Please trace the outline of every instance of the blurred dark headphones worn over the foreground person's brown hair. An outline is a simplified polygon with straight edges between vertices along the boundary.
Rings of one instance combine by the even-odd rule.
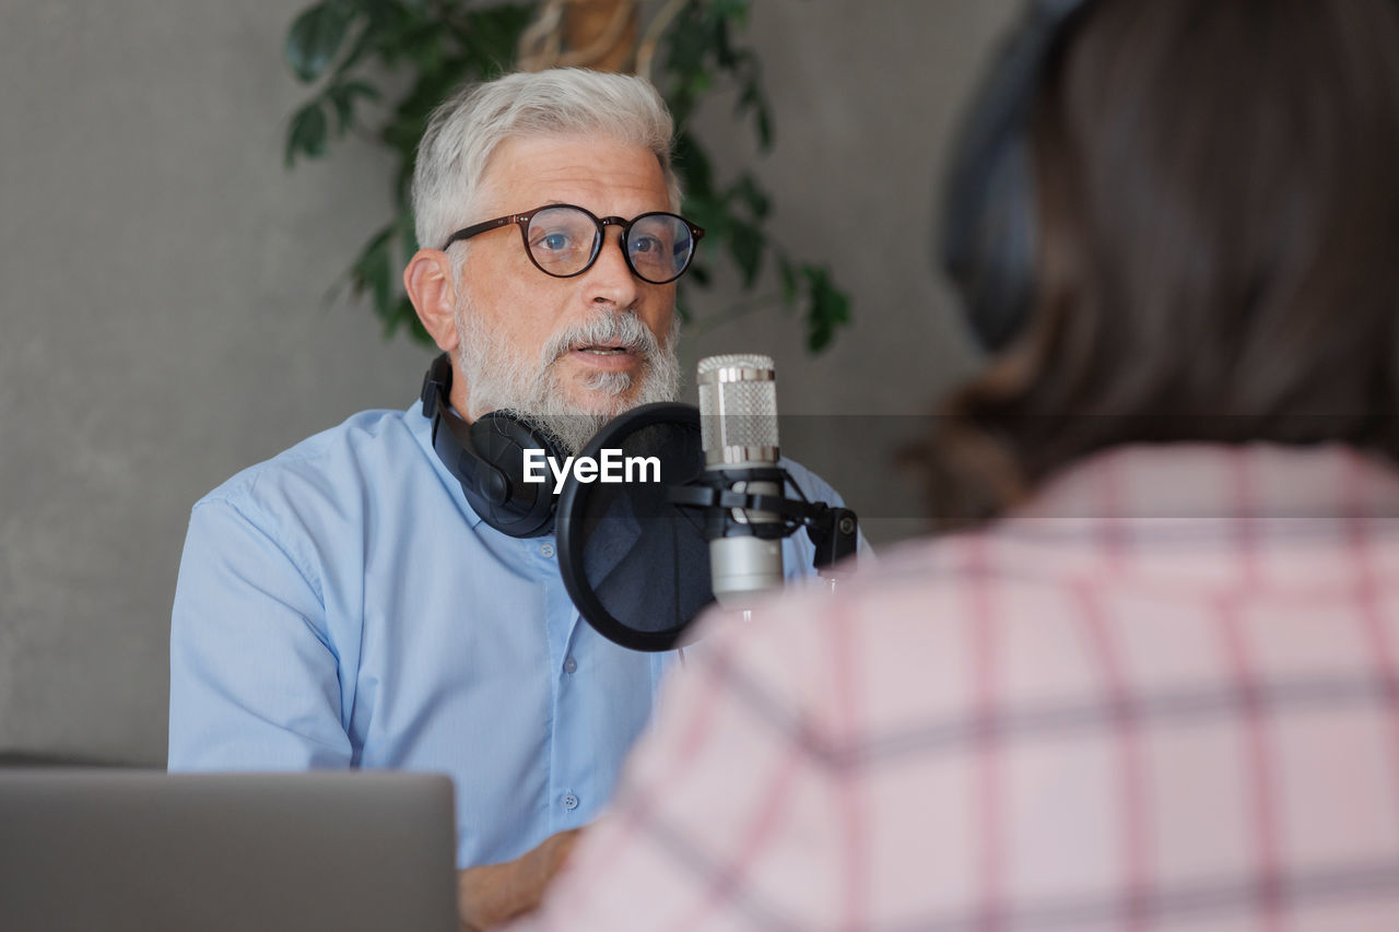
[[[942,264],[977,341],[1006,348],[1034,304],[1039,220],[1030,120],[1045,64],[1094,0],[1031,0],[982,78],[943,192]]]

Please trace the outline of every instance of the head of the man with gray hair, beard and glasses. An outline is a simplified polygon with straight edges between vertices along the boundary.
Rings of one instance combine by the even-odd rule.
[[[576,451],[624,410],[674,397],[674,280],[701,231],[672,213],[670,136],[649,84],[576,69],[511,74],[434,115],[413,206],[418,242],[442,248],[420,250],[403,283],[456,357],[452,403],[469,420],[527,411]],[[536,207],[546,185],[558,197],[508,213]],[[602,248],[613,224],[625,249]],[[525,249],[504,234],[476,239],[506,225]]]

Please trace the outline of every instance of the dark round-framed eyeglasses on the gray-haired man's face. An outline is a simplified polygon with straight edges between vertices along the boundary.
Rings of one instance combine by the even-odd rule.
[[[596,217],[574,204],[546,204],[457,230],[446,238],[442,249],[509,224],[520,228],[530,262],[555,278],[572,278],[593,267],[603,250],[604,227],[621,227],[625,246],[621,255],[627,267],[651,284],[666,284],[683,276],[695,256],[695,243],[704,238],[704,230],[676,214],[655,211],[623,220]]]

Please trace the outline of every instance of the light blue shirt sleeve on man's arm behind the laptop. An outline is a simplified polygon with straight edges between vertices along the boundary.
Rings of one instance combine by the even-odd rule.
[[[305,561],[231,501],[196,505],[171,617],[169,768],[348,767],[340,697]]]

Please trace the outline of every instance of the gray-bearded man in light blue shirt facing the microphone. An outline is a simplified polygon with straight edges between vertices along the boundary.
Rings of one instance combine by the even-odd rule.
[[[674,399],[676,280],[702,231],[674,213],[672,133],[644,80],[572,69],[434,115],[403,283],[448,354],[443,409],[509,411],[576,451]],[[553,535],[477,514],[427,407],[357,414],[194,505],[169,767],[450,774],[463,919],[485,925],[532,905],[607,802],[672,658],[579,623]],[[783,550],[811,565],[804,537]]]

